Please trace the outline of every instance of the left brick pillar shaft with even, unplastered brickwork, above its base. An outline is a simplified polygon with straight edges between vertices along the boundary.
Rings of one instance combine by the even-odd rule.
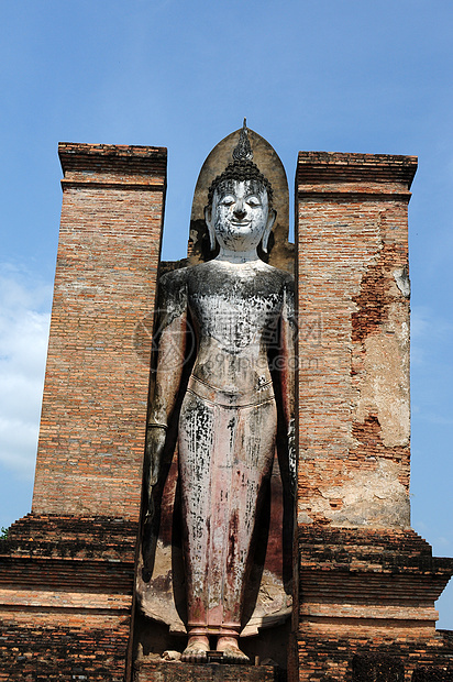
[[[135,520],[148,389],[142,320],[155,298],[166,150],[58,151],[63,209],[33,513]]]

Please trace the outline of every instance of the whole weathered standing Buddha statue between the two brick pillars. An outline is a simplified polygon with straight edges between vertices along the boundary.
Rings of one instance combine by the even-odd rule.
[[[270,183],[252,161],[245,121],[233,162],[210,187],[205,217],[218,255],[161,280],[143,563],[146,572],[154,491],[177,414],[188,634],[183,660],[206,660],[216,636],[223,659],[242,662],[247,657],[239,636],[277,426],[286,469],[295,474],[296,329],[291,275],[257,255],[258,245],[267,250],[276,213]]]

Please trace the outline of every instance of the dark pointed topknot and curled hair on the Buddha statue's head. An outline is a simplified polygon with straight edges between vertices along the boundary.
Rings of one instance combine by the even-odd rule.
[[[212,198],[216,189],[223,183],[231,180],[254,180],[267,190],[267,199],[269,208],[272,207],[273,189],[269,180],[265,177],[256,164],[253,163],[253,152],[250,145],[248,131],[246,127],[246,120],[239,136],[237,145],[233,150],[233,162],[230,163],[226,168],[218,175],[211,183],[208,190],[208,206],[212,205]]]

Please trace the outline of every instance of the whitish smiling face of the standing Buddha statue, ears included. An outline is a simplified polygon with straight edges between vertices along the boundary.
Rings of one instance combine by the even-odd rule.
[[[222,183],[214,191],[212,207],[206,211],[211,245],[214,246],[217,240],[226,252],[256,251],[262,240],[266,251],[274,220],[267,190],[254,180]]]

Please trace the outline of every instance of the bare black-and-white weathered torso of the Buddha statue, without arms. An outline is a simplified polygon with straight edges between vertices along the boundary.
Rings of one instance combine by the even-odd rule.
[[[209,261],[187,268],[187,305],[197,337],[192,374],[219,391],[250,393],[272,381],[285,289],[291,277],[263,261]]]

